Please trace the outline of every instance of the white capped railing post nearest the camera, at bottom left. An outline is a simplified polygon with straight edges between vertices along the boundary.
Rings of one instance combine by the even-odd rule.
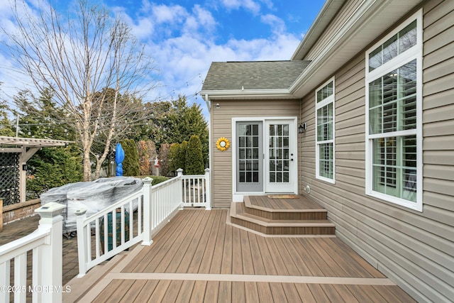
[[[40,272],[36,273],[39,277],[43,289],[48,288],[48,292],[42,292],[42,302],[62,302],[62,292],[52,291],[52,287],[63,287],[62,285],[62,229],[63,217],[60,215],[65,205],[50,202],[45,204],[35,212],[41,216],[38,229],[50,228],[50,236],[48,245],[38,248],[39,256],[38,268]],[[38,286],[38,285],[35,285]]]

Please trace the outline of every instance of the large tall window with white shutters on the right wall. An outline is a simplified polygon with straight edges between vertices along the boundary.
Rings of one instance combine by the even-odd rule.
[[[366,52],[366,194],[422,211],[422,15]]]

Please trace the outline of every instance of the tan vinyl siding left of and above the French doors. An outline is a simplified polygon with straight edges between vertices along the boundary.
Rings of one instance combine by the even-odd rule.
[[[219,104],[219,109],[216,109]],[[214,207],[229,207],[232,202],[232,153],[236,146],[222,151],[216,148],[218,138],[226,137],[233,143],[232,119],[240,117],[273,117],[289,116],[295,117],[299,113],[298,100],[219,100],[213,101],[211,107],[212,135],[211,155],[213,158],[213,169],[211,170],[213,180],[213,201]]]

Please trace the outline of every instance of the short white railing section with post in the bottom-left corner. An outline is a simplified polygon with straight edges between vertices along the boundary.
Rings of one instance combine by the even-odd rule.
[[[0,246],[0,302],[62,302],[62,219],[65,206],[48,203],[36,209],[38,229],[28,236]],[[27,252],[33,250],[32,284],[27,285]],[[13,283],[10,281],[11,260]]]

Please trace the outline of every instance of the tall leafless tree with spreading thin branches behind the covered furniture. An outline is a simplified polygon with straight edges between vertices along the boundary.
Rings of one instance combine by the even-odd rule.
[[[17,31],[5,31],[11,56],[38,90],[50,88],[56,103],[70,112],[62,119],[74,121],[84,180],[91,180],[91,154],[98,177],[112,143],[141,119],[131,100],[153,89],[155,64],[131,28],[104,6],[78,0],[74,12],[63,16],[52,6],[33,11],[19,3],[12,6]]]

